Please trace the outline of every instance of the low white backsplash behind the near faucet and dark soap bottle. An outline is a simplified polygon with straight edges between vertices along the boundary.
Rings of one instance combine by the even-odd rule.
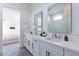
[[[55,35],[57,37],[55,37]],[[78,41],[79,42],[79,35],[67,34],[67,36],[68,36],[69,41]],[[65,34],[49,33],[48,37],[53,38],[53,39],[64,40]]]

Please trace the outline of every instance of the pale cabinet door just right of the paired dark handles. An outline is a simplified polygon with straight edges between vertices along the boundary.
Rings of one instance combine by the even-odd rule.
[[[55,44],[49,44],[48,49],[52,55],[63,56],[63,47],[57,46]]]

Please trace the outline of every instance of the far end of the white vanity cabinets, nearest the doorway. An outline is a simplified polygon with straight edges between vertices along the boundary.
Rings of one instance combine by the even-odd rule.
[[[39,39],[27,35],[24,39],[24,46],[34,55],[39,56]]]

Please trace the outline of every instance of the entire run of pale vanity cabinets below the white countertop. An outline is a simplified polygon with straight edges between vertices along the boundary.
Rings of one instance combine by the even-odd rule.
[[[24,43],[34,56],[79,56],[78,51],[31,35],[27,35]]]

